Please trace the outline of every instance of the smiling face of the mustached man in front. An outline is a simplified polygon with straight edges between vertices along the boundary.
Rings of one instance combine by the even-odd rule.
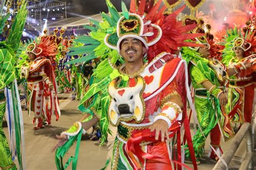
[[[143,55],[147,49],[143,46],[142,41],[136,38],[125,38],[121,42],[120,54],[125,62],[137,62],[143,60]]]

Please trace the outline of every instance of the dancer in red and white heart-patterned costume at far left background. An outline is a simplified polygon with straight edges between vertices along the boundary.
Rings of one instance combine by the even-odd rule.
[[[39,44],[32,43],[26,47],[26,54],[32,61],[28,72],[28,107],[29,115],[31,111],[35,114],[34,130],[44,128],[45,124],[50,125],[52,114],[55,114],[56,121],[60,116],[55,73],[48,59],[56,55],[57,44],[49,36],[40,38]]]

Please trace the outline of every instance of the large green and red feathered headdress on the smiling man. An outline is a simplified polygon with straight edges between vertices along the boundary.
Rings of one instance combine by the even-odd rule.
[[[187,33],[197,25],[184,26],[182,22],[178,22],[176,19],[185,6],[166,16],[164,15],[166,6],[160,8],[161,0],[154,4],[150,10],[145,9],[145,0],[140,1],[139,6],[132,0],[130,12],[122,3],[123,12],[120,15],[109,0],[106,0],[106,3],[110,17],[103,12],[102,23],[90,20],[95,27],[85,26],[91,30],[89,36],[80,36],[76,40],[87,46],[70,49],[73,51],[70,55],[87,55],[71,62],[83,62],[98,57],[101,59],[112,57],[111,62],[114,64],[120,59],[120,55],[117,53],[119,44],[127,37],[136,37],[143,42],[148,48],[147,60],[149,62],[161,52],[173,53],[182,46],[198,46],[192,42],[185,42],[186,39],[201,36],[201,34]]]

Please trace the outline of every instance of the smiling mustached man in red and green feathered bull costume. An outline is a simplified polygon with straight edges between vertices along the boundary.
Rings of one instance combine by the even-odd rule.
[[[103,23],[96,23],[97,27],[91,28],[90,36],[78,37],[78,41],[87,40],[91,47],[95,46],[95,50],[84,48],[83,53],[89,53],[84,60],[92,55],[103,59],[93,73],[93,84],[78,107],[91,116],[76,122],[68,131],[57,136],[59,142],[55,148],[62,146],[68,136],[73,141],[83,129],[89,129],[97,121],[102,131],[103,145],[110,120],[118,129],[113,146],[112,169],[172,169],[171,155],[181,155],[180,127],[184,123],[185,137],[194,168],[197,169],[186,115],[186,98],[192,102],[190,93],[187,93],[186,64],[174,53],[178,47],[202,46],[184,42],[201,34],[186,34],[196,25],[182,26],[181,22],[177,22],[176,17],[185,6],[164,16],[166,7],[158,9],[161,1],[150,11],[144,11],[145,1],[140,2],[138,11],[132,1],[130,13],[122,3],[123,13],[120,16],[110,1],[106,3],[111,16],[107,20],[113,25],[112,29],[107,30],[113,32],[106,33],[106,29],[101,29],[100,26],[109,26],[104,19]],[[143,16],[145,12],[147,14]],[[122,56],[120,59],[119,54]],[[104,59],[104,56],[110,59]],[[85,108],[84,102],[88,100],[89,107]],[[174,134],[178,138],[177,153],[168,149],[168,139]],[[65,148],[70,147],[70,141]],[[63,165],[59,157],[63,157],[65,152],[62,148],[56,152],[58,167]],[[175,166],[186,167],[181,157],[176,158]]]

